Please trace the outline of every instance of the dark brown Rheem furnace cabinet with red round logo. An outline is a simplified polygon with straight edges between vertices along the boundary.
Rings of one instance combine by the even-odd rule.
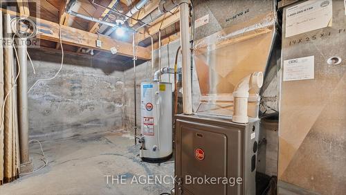
[[[237,124],[212,115],[176,115],[175,120],[176,194],[255,194],[259,120]],[[206,178],[228,183],[205,183]]]

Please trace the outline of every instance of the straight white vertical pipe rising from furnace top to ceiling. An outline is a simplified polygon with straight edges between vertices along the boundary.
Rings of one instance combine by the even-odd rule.
[[[192,114],[189,5],[186,2],[180,4],[180,29],[183,72],[183,113]]]

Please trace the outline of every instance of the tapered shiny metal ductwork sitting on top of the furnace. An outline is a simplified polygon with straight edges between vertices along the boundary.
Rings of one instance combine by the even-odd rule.
[[[242,5],[242,2],[238,1],[235,5]],[[269,4],[261,6],[271,8]],[[217,9],[213,11],[217,12]],[[201,95],[199,100],[194,101],[198,106],[197,113],[238,115],[239,112],[235,113],[235,104],[239,101],[235,102],[235,96],[239,93],[234,93],[237,91],[237,84],[255,72],[264,73],[266,87],[248,91],[246,115],[250,118],[259,117],[259,100],[264,91],[267,97],[276,95],[274,89],[268,88],[271,80],[266,79],[270,79],[267,70],[271,70],[276,64],[274,58],[273,62],[271,61],[271,56],[274,56],[271,51],[277,35],[275,15],[268,10],[257,17],[247,16],[248,19],[237,21],[236,25],[230,25],[218,32],[213,31],[214,26],[210,23],[203,26],[203,29],[196,30],[196,37],[202,37],[197,38],[194,44],[194,63]],[[276,72],[273,71],[273,74]],[[271,85],[273,88],[274,86],[277,84]]]

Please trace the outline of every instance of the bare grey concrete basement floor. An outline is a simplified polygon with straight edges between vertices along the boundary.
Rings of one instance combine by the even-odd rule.
[[[140,162],[139,145],[134,146],[134,139],[127,132],[43,142],[42,147],[48,165],[1,186],[0,194],[161,194],[170,192],[174,186],[168,177],[174,176],[173,160],[161,165]],[[41,152],[39,145],[31,144],[30,152]],[[42,165],[39,155],[31,157],[36,168]],[[155,184],[151,178],[148,182],[147,176],[166,175],[165,183]],[[111,176],[123,176],[126,184],[118,184],[116,180],[112,184]]]

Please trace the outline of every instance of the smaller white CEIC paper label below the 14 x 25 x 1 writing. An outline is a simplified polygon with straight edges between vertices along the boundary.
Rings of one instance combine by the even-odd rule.
[[[315,57],[301,57],[284,61],[284,81],[313,80]]]

